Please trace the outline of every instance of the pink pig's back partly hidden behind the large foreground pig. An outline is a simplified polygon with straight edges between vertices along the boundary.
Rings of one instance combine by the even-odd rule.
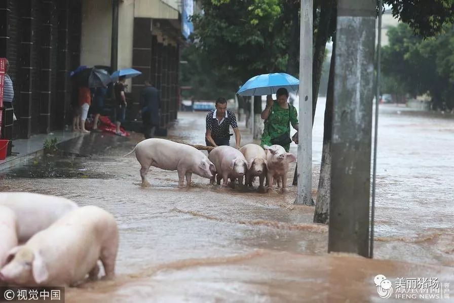
[[[8,207],[16,214],[20,243],[78,208],[77,204],[63,197],[22,192],[0,193],[0,206]]]

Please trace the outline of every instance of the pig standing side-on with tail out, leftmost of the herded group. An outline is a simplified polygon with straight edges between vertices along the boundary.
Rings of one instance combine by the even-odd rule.
[[[170,140],[158,138],[143,140],[125,157],[134,151],[136,152],[137,161],[141,165],[140,177],[142,178],[142,186],[149,186],[146,174],[150,166],[178,171],[178,187],[184,186],[184,176],[186,176],[186,186],[190,187],[193,173],[210,179],[216,171],[213,163],[200,150],[193,146]]]

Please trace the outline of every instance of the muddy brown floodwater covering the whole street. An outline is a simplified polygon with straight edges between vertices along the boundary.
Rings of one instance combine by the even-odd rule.
[[[314,198],[324,102],[313,130]],[[169,139],[204,144],[205,114],[180,112]],[[244,137],[242,145],[250,142]],[[64,196],[116,217],[118,277],[67,289],[67,302],[379,302],[378,274],[437,277],[454,287],[451,115],[381,105],[373,260],[328,255],[327,226],[312,223],[313,207],[293,205],[294,186],[286,194],[221,191],[193,175],[186,190],[176,171],[152,168],[152,186],[141,187],[140,165],[123,157],[140,140],[92,133],[61,144],[63,157],[0,173],[1,191]],[[296,155],[295,144],[290,151]]]

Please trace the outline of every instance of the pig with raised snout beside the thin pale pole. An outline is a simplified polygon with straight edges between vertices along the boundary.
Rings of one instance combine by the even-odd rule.
[[[271,190],[274,179],[277,179],[278,187],[285,192],[287,187],[287,172],[289,164],[296,162],[296,157],[290,153],[286,153],[281,145],[264,145],[263,148],[267,154],[267,175],[268,175],[268,190]]]

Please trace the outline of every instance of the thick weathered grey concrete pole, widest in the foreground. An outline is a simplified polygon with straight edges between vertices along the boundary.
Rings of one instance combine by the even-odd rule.
[[[369,255],[376,0],[339,0],[328,251]]]

